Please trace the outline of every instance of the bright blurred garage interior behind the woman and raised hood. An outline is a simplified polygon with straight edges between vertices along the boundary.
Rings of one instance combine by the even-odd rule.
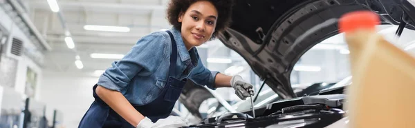
[[[143,36],[172,28],[168,3],[0,0],[0,127],[78,127],[94,101],[93,86],[111,63]],[[376,33],[415,55],[415,15],[409,11],[414,5],[411,0],[238,0],[230,28],[196,48],[209,70],[240,75],[253,85],[252,106],[261,117],[273,103],[337,94],[336,87],[351,85],[351,51],[337,25],[347,12],[378,14],[382,23]],[[198,127],[228,113],[245,121],[251,111],[250,98],[241,100],[232,87],[212,90],[190,82],[171,115]]]

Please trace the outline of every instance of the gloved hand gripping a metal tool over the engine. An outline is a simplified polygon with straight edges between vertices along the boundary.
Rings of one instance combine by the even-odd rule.
[[[239,75],[233,76],[232,79],[230,79],[230,85],[235,89],[235,94],[237,94],[241,100],[246,100],[246,98],[250,96],[248,89],[253,88],[250,83],[243,81],[243,78]]]

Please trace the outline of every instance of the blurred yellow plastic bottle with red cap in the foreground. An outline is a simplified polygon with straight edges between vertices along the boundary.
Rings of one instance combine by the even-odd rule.
[[[415,127],[415,58],[376,32],[377,14],[358,11],[339,21],[349,46],[349,127]],[[414,35],[415,36],[415,35]]]

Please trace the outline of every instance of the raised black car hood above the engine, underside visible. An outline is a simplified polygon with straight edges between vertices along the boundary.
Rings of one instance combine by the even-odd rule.
[[[290,83],[293,66],[311,47],[338,34],[338,19],[342,14],[373,10],[380,14],[383,24],[397,25],[403,12],[392,0],[236,2],[232,25],[219,33],[218,39],[240,54],[255,74],[282,98],[297,97]],[[396,3],[392,4],[395,10],[382,6],[386,3]],[[413,24],[410,20],[407,28],[413,29]]]

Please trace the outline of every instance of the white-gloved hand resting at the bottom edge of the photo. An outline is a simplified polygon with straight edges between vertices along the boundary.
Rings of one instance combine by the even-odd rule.
[[[138,123],[136,128],[170,128],[170,127],[186,127],[187,123],[177,116],[169,116],[167,118],[159,119],[156,123],[151,122],[151,120],[145,117],[143,120]]]

